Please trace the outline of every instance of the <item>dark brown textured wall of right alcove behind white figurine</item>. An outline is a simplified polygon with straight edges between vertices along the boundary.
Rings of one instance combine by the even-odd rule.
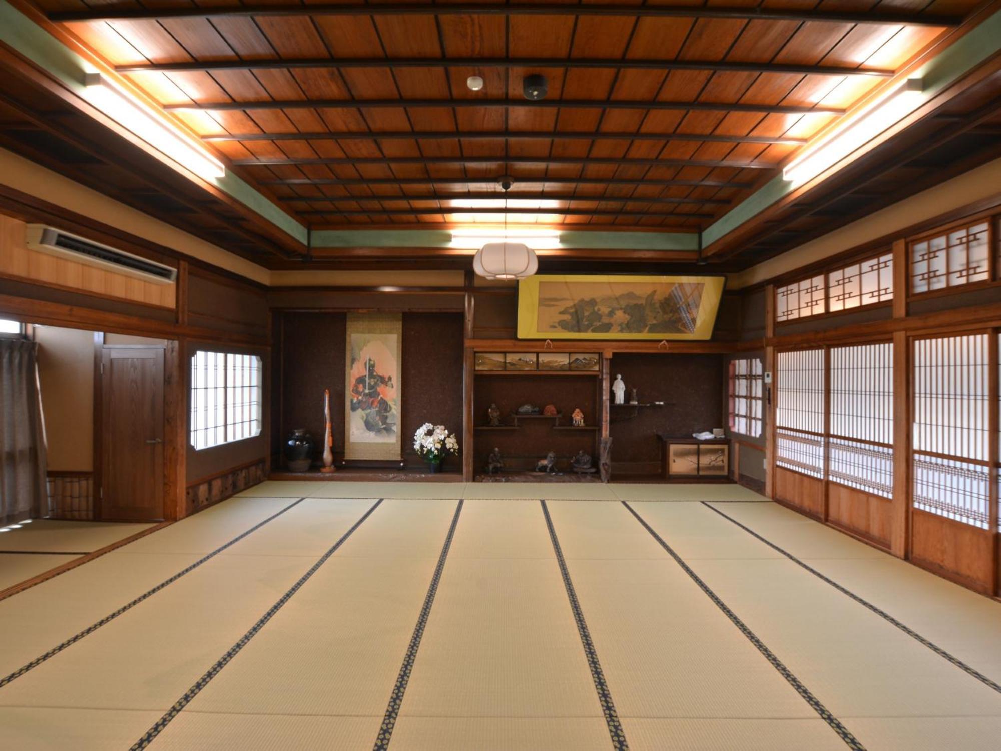
[[[626,400],[636,387],[641,403],[663,401],[664,407],[612,408],[613,468],[656,472],[661,446],[658,433],[691,437],[724,425],[720,402],[723,356],[719,354],[617,354],[612,379],[622,373]]]

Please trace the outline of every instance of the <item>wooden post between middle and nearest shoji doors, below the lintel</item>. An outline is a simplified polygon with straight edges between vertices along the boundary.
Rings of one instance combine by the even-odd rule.
[[[894,298],[897,291],[894,288]],[[896,302],[894,303],[896,304]],[[907,558],[911,521],[911,351],[906,331],[893,334],[893,499],[890,552]]]

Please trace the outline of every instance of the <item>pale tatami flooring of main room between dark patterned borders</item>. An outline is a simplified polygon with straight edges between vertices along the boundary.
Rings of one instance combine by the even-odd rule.
[[[281,603],[150,747],[372,748],[457,501],[366,484],[344,488],[353,497],[317,493],[351,485],[271,483],[270,495],[230,499],[0,602],[2,677],[219,551],[0,687],[0,745],[128,748]],[[412,485],[428,494],[469,487]],[[308,492],[296,495],[299,486]],[[478,487],[498,495],[463,502],[393,751],[612,747],[541,504],[518,500],[529,492],[548,499],[631,749],[846,748],[626,506],[592,502],[577,492],[587,484]],[[720,501],[721,511],[995,679],[997,603],[770,502],[725,503],[758,498],[733,486],[599,488],[631,496],[870,751],[997,746],[1001,693],[695,502]],[[390,500],[282,600],[377,498]],[[577,498],[590,500],[569,500]]]

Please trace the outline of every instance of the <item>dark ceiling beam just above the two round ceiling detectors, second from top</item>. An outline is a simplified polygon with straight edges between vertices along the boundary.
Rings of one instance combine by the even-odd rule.
[[[308,7],[308,6],[307,6]],[[187,60],[169,63],[116,65],[119,73],[211,72],[215,70],[273,70],[289,68],[618,68],[630,70],[719,70],[738,73],[892,77],[886,68],[850,65],[794,65],[733,60],[668,60],[530,57],[299,57],[271,60]]]

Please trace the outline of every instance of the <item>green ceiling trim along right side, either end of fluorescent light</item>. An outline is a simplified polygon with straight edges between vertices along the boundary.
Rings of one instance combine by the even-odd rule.
[[[924,78],[924,90],[915,109],[937,96],[946,86],[984,62],[1001,49],[1001,10],[964,34],[929,60],[915,75]],[[795,185],[779,175],[756,193],[739,203],[703,232],[703,246],[708,247],[724,235],[760,213],[793,190]]]

